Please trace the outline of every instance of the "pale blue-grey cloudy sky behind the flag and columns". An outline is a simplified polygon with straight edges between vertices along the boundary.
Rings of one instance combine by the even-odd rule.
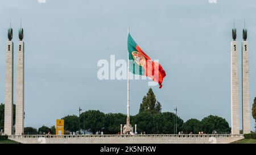
[[[246,19],[251,104],[256,97],[254,10],[254,0],[0,1],[0,102],[5,93],[7,28],[11,19],[16,60],[21,18],[26,59],[26,127],[54,125],[55,119],[77,115],[79,107],[82,111],[126,114],[126,80],[100,81],[97,62],[109,61],[110,55],[126,60],[130,27],[143,51],[158,59],[166,70],[162,89],[152,87],[163,111],[173,112],[177,106],[178,115],[184,120],[218,115],[230,123],[230,41],[234,19],[238,49]],[[14,76],[15,73],[16,70]],[[147,83],[130,82],[132,115],[138,113],[149,88]],[[253,124],[251,118],[252,129]]]

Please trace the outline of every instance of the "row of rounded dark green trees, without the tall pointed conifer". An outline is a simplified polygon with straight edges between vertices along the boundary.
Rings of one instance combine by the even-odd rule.
[[[150,112],[139,112],[139,114],[130,117],[131,124],[137,124],[137,132],[146,132],[146,134],[174,134],[176,115],[172,112],[161,112],[151,114]],[[64,129],[76,132],[80,129],[90,132],[103,131],[104,134],[117,134],[120,131],[120,124],[126,124],[126,115],[124,114],[104,114],[98,110],[89,110],[82,112],[79,116],[68,115],[64,118]],[[177,120],[177,132],[183,133],[204,133],[230,132],[230,127],[225,119],[218,116],[207,116],[204,119],[189,119],[187,122],[179,117]]]

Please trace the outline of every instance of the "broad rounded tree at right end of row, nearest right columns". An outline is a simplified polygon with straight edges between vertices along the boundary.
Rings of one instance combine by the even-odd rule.
[[[231,128],[229,123],[224,118],[209,115],[201,120],[201,129],[205,133],[212,133],[214,130],[217,132],[230,132]]]

